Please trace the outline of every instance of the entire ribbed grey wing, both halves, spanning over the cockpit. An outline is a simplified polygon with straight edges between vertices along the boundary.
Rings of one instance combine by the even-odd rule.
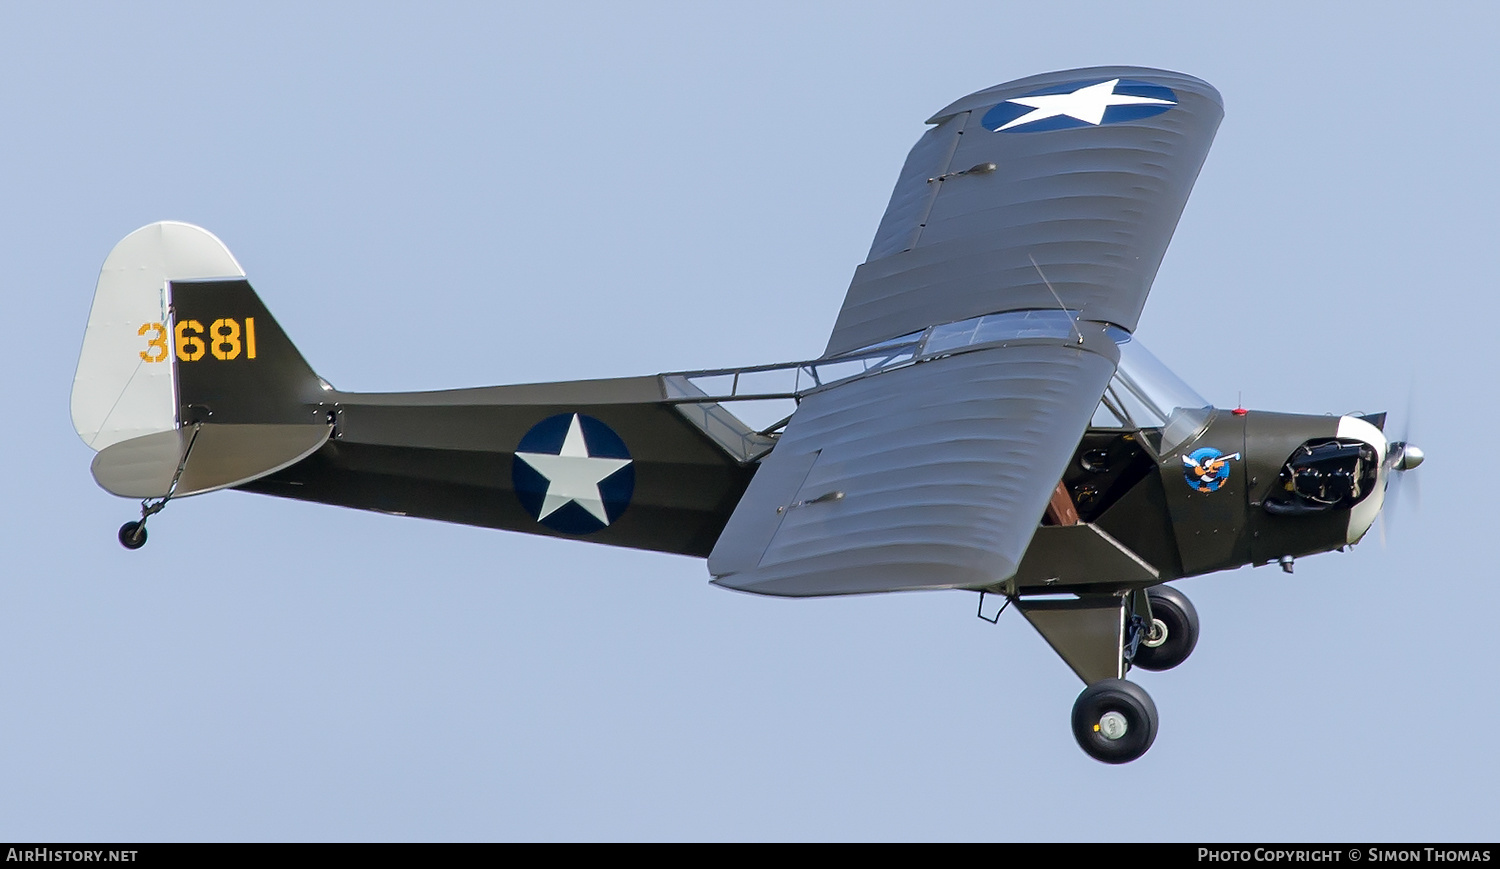
[[[915,362],[802,399],[708,560],[716,582],[812,596],[1014,575],[1221,117],[1210,86],[1137,68],[933,116],[825,353],[920,333]]]

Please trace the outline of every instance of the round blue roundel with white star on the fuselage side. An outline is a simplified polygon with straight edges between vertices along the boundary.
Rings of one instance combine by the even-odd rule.
[[[564,534],[608,528],[636,488],[626,441],[580,413],[560,413],[531,426],[516,446],[510,477],[531,518]]]

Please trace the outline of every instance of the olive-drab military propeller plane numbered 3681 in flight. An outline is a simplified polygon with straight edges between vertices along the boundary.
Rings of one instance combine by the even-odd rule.
[[[232,488],[694,555],[754,594],[1004,600],[1083,680],[1078,746],[1134,761],[1158,713],[1125,677],[1200,632],[1166,582],[1358,543],[1424,461],[1383,413],[1215,408],[1132,336],[1221,119],[1212,86],[1132,66],[950,104],[822,354],[735,369],[340,392],[218,237],[152,224],[100,270],[74,425],[141,501],[128,549]],[[764,402],[786,413],[747,422]]]

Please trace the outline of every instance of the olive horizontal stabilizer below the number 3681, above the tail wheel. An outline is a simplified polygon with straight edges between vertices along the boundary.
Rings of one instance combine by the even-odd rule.
[[[318,450],[327,425],[200,423],[108,446],[94,482],[123,498],[183,498],[273,474]]]

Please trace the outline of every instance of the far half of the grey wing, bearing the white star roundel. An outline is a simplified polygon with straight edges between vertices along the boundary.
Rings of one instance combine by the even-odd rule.
[[[1098,99],[1041,99],[1110,81]],[[1148,93],[1160,96],[1134,96]],[[1172,104],[1106,105],[1098,125],[1053,114],[990,129],[1132,96]],[[1112,119],[1143,111],[1154,114]],[[1134,330],[1222,117],[1212,86],[1126,66],[1050,72],[954,102],[906,159],[826,353],[933,323],[1056,308],[1048,282],[1062,306]]]

